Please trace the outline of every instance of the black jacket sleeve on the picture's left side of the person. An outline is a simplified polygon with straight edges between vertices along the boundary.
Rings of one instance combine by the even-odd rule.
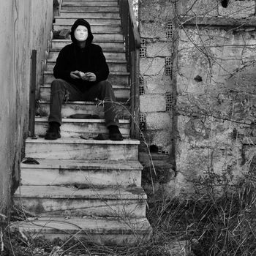
[[[56,59],[56,65],[53,68],[53,75],[55,78],[70,80],[71,71],[67,48],[62,48]]]

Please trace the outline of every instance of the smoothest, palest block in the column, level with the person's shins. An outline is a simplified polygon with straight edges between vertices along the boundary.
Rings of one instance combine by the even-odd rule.
[[[166,103],[164,95],[140,95],[140,112],[159,112],[165,110]]]

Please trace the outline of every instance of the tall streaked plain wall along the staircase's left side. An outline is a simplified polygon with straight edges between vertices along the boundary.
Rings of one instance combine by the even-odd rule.
[[[0,213],[11,204],[19,178],[23,141],[28,132],[31,50],[45,58],[52,25],[53,0],[3,0],[0,8]],[[38,69],[37,81],[40,70]]]

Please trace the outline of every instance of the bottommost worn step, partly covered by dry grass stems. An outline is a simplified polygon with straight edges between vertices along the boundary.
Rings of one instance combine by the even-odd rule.
[[[151,237],[151,226],[146,218],[29,218],[25,222],[12,222],[13,232],[29,233],[32,238],[43,236],[48,240],[73,236],[99,244],[116,244],[119,246],[138,245]]]

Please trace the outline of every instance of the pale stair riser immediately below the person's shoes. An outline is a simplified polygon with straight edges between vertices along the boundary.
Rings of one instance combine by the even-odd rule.
[[[96,140],[97,141],[97,140]],[[136,160],[137,145],[122,144],[76,144],[76,143],[29,143],[26,142],[26,157],[45,159],[86,160]]]

